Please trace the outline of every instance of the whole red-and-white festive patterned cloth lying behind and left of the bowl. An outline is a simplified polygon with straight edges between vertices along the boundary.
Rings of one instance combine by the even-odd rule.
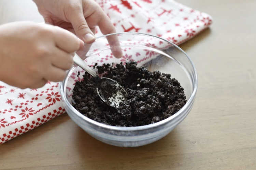
[[[96,0],[117,32],[141,32],[179,45],[209,27],[212,18],[173,0]],[[96,35],[102,35],[96,29]],[[142,56],[143,57],[143,56]],[[123,56],[119,60],[126,60]],[[95,59],[97,61],[97,58]],[[63,113],[59,83],[19,89],[0,82],[0,144]]]

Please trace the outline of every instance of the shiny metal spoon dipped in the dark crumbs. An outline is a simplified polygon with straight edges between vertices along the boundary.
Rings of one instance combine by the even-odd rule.
[[[108,105],[118,108],[119,103],[125,100],[124,96],[127,94],[125,89],[110,78],[100,78],[98,74],[93,69],[91,69],[88,64],[83,61],[76,53],[73,57],[73,61],[76,65],[94,77],[96,80],[96,90],[99,97]]]

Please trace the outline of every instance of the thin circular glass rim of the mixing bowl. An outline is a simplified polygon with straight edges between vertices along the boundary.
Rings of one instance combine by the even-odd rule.
[[[122,126],[113,126],[113,125],[108,125],[108,124],[104,124],[104,123],[100,123],[100,122],[97,122],[95,120],[92,120],[88,117],[86,117],[85,115],[83,115],[82,113],[80,113],[79,111],[77,111],[68,101],[68,99],[66,98],[66,96],[64,95],[63,93],[63,86],[68,78],[68,76],[66,76],[66,78],[59,83],[59,87],[60,87],[60,94],[61,94],[61,98],[62,98],[62,101],[65,102],[65,104],[72,108],[72,110],[74,110],[74,113],[76,114],[76,116],[80,117],[81,119],[91,123],[91,124],[94,124],[94,125],[97,125],[97,126],[100,126],[100,128],[104,128],[104,129],[109,129],[109,130],[114,130],[114,131],[139,131],[139,130],[145,130],[145,129],[151,129],[151,128],[155,128],[157,126],[160,126],[162,124],[165,124],[169,121],[171,121],[172,119],[175,119],[176,117],[179,117],[181,115],[182,112],[184,112],[184,110],[193,104],[193,101],[195,99],[195,96],[196,96],[196,92],[197,92],[197,88],[198,88],[198,76],[197,76],[197,71],[196,71],[196,68],[195,68],[195,65],[193,63],[193,61],[191,60],[191,58],[187,55],[187,53],[182,50],[179,46],[173,44],[172,42],[168,41],[167,39],[164,39],[164,38],[161,38],[161,37],[158,37],[158,36],[155,36],[155,35],[151,35],[151,34],[146,34],[146,33],[138,33],[138,32],[119,32],[119,33],[111,33],[111,34],[106,34],[106,35],[102,35],[102,36],[98,36],[96,37],[96,39],[99,39],[99,38],[103,38],[103,37],[107,37],[107,36],[110,36],[110,35],[119,35],[119,34],[138,34],[138,35],[146,35],[146,36],[151,36],[151,37],[155,37],[155,38],[158,38],[158,39],[161,39],[163,41],[166,41],[167,43],[173,45],[174,47],[176,47],[177,49],[179,49],[181,52],[183,52],[185,54],[185,56],[188,58],[190,64],[192,65],[193,67],[193,71],[195,72],[195,86],[194,86],[194,89],[193,89],[193,92],[190,96],[190,98],[187,100],[186,104],[178,111],[176,112],[175,114],[173,114],[172,116],[166,118],[166,119],[163,119],[159,122],[156,122],[156,123],[153,123],[153,124],[147,124],[147,125],[143,125],[143,126],[132,126],[132,127],[122,127]],[[67,72],[67,75],[70,74],[71,70],[73,69],[73,67]],[[193,77],[192,77],[192,80],[193,80]]]

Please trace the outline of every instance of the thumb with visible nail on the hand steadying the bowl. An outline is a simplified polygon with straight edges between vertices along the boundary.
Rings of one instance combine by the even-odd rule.
[[[82,39],[86,44],[93,43],[95,41],[95,36],[93,32],[91,32],[84,18],[83,11],[76,10],[73,11],[72,14],[73,15],[69,18],[69,20],[74,28],[76,36]]]

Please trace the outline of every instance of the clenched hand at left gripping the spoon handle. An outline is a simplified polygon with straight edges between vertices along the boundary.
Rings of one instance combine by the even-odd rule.
[[[0,80],[20,88],[61,81],[84,45],[73,33],[49,24],[13,22],[0,26]]]

